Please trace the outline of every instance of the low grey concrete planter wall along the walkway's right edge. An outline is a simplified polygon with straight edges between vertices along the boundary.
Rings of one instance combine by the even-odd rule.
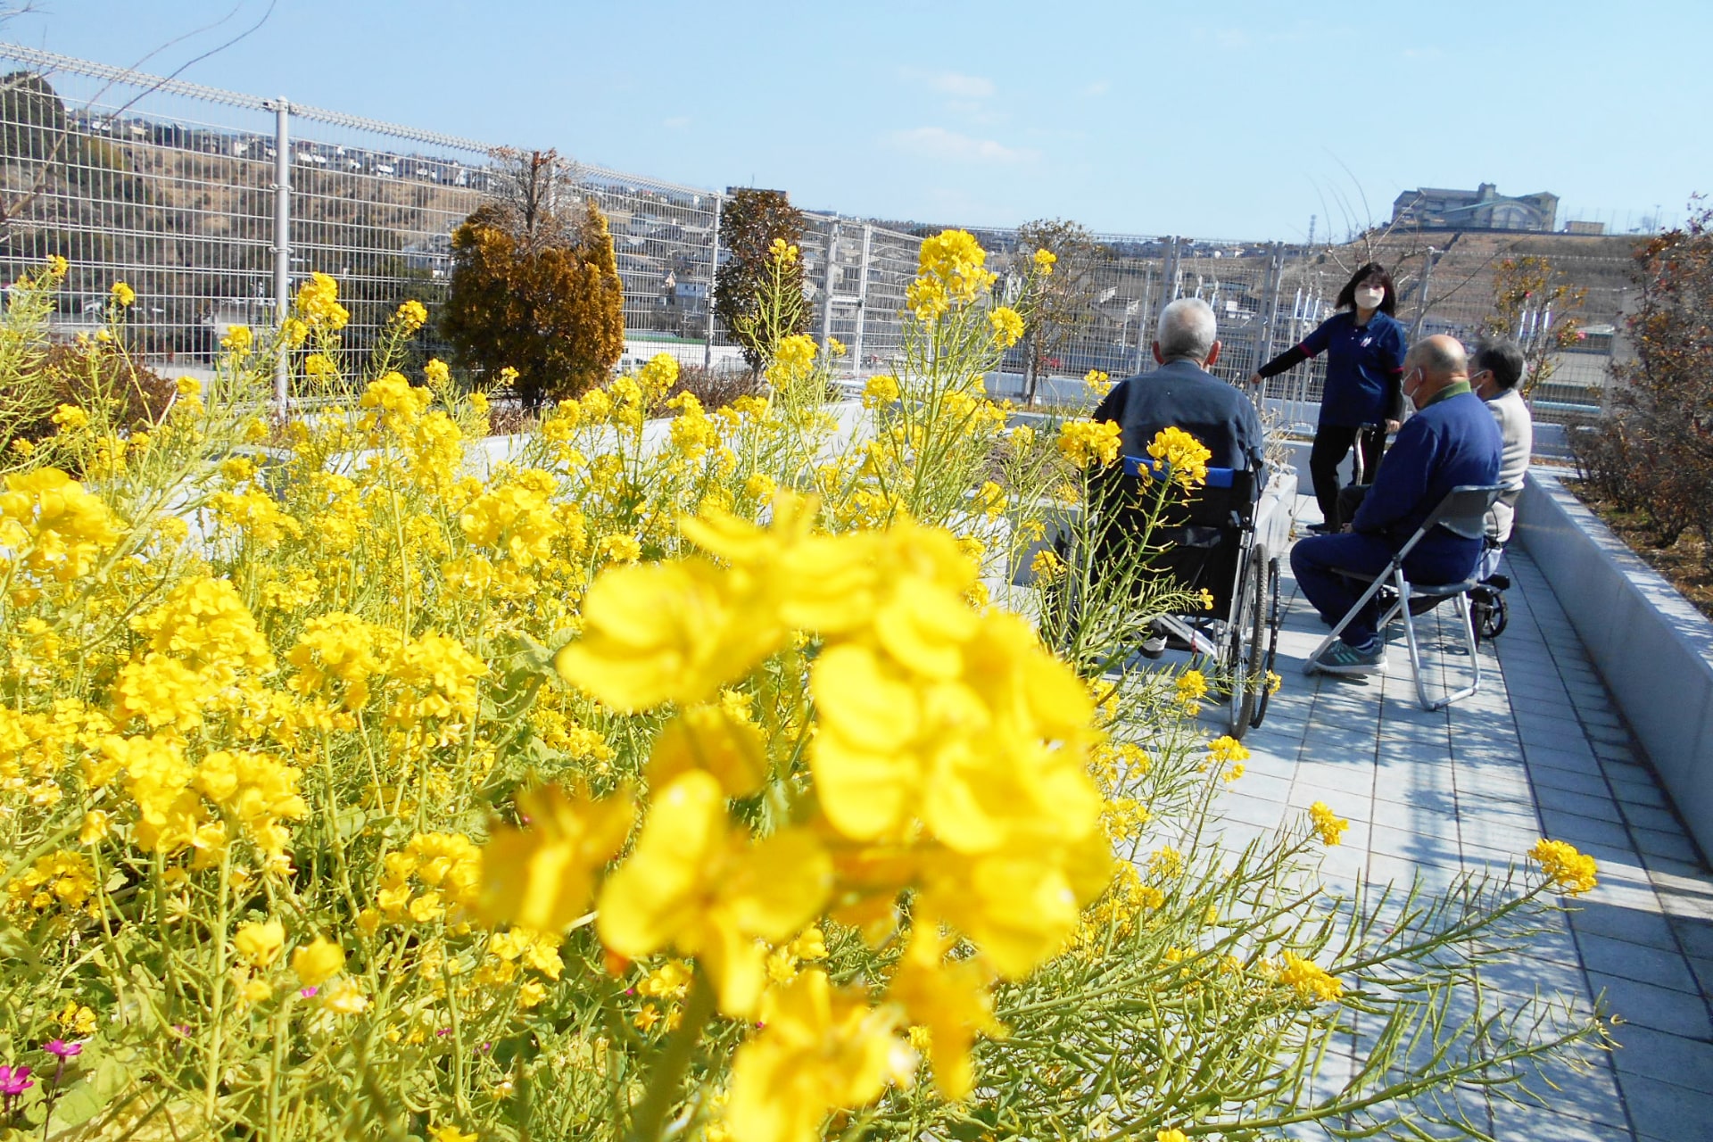
[[[1689,832],[1713,853],[1713,622],[1557,476],[1530,473],[1516,531]]]

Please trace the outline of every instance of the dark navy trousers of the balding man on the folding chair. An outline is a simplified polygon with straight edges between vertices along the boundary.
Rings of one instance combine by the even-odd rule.
[[[1403,562],[1405,579],[1424,584],[1458,582],[1475,567],[1480,548],[1480,539],[1446,538],[1432,544],[1424,539]],[[1377,575],[1391,563],[1391,556],[1393,546],[1379,536],[1346,531],[1298,539],[1290,550],[1290,570],[1304,598],[1321,611],[1321,618],[1336,623],[1369,589],[1367,582],[1340,572]],[[1365,645],[1377,633],[1374,625],[1379,616],[1379,604],[1369,599],[1338,637],[1355,647]]]

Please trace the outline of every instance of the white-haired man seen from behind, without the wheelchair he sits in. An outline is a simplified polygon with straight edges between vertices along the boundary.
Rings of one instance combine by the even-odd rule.
[[[1182,428],[1213,452],[1208,464],[1261,471],[1266,438],[1254,402],[1208,372],[1220,360],[1213,308],[1179,298],[1160,313],[1151,373],[1120,380],[1095,409],[1115,423],[1124,455],[1148,455],[1161,428]]]

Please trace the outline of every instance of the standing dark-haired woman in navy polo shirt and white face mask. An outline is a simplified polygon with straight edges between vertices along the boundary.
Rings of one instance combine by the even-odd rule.
[[[1326,353],[1326,392],[1321,397],[1321,423],[1309,450],[1309,474],[1314,498],[1321,503],[1324,524],[1309,531],[1338,531],[1338,466],[1350,445],[1362,449],[1362,466],[1370,474],[1386,447],[1386,433],[1398,428],[1403,394],[1406,339],[1403,325],[1393,318],[1398,289],[1379,262],[1369,262],[1338,291],[1338,312],[1321,322],[1302,344],[1280,353],[1249,378],[1264,378]],[[1360,442],[1360,443],[1358,443]]]

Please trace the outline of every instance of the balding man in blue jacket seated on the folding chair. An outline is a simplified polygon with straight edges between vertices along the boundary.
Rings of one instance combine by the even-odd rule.
[[[1403,394],[1417,407],[1391,452],[1374,473],[1374,486],[1350,520],[1350,531],[1302,539],[1290,567],[1304,596],[1328,623],[1336,623],[1367,584],[1340,570],[1377,575],[1386,570],[1422,520],[1459,485],[1492,485],[1499,478],[1504,440],[1492,413],[1470,389],[1470,365],[1456,337],[1427,337],[1403,361]],[[1482,556],[1482,541],[1444,527],[1422,538],[1405,560],[1412,582],[1442,584],[1468,579]],[[1376,630],[1372,599],[1328,651],[1319,669],[1331,675],[1386,671],[1386,639]]]

